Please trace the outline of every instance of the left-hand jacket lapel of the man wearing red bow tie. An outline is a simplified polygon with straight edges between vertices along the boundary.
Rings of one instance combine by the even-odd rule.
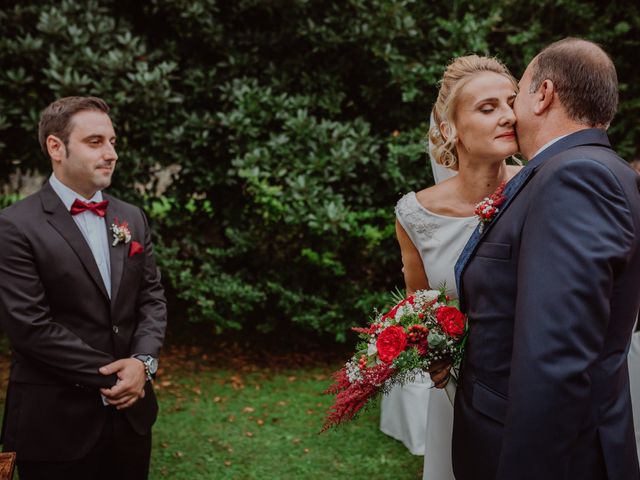
[[[82,232],[80,232],[76,222],[73,221],[71,214],[64,207],[64,204],[53,191],[51,185],[49,185],[49,182],[45,183],[42,190],[40,190],[40,198],[42,200],[43,210],[49,214],[47,221],[60,233],[62,238],[67,241],[98,289],[105,298],[109,300],[107,289],[104,286],[98,265],[96,264],[89,245],[82,236]]]

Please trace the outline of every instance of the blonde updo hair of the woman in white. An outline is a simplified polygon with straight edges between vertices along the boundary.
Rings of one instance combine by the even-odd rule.
[[[449,64],[442,76],[438,99],[433,106],[434,123],[429,128],[429,140],[431,141],[431,155],[436,163],[452,170],[458,170],[456,150],[458,132],[455,121],[460,92],[476,74],[482,72],[503,75],[513,83],[514,90],[517,90],[518,87],[507,67],[496,58],[467,55],[458,57]],[[446,125],[444,135],[440,131],[440,125],[443,122]]]

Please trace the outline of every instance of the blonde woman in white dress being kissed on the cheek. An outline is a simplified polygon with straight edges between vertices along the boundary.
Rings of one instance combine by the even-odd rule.
[[[506,157],[517,149],[511,105],[516,82],[493,58],[454,60],[445,71],[429,131],[430,154],[458,175],[396,206],[407,294],[445,286],[457,297],[453,267],[478,220],[475,205],[517,173]],[[454,480],[451,468],[453,407],[428,376],[397,387],[382,400],[380,428],[414,454],[424,453],[424,480]]]

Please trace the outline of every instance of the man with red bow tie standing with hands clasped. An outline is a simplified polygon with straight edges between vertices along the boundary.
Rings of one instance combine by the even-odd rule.
[[[2,440],[21,480],[148,475],[166,302],[147,219],[102,192],[118,159],[108,112],[94,97],[49,105],[53,174],[0,212]]]

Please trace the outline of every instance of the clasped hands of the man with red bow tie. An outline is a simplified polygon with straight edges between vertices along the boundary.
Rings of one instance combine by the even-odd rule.
[[[147,376],[144,364],[135,358],[123,358],[100,368],[103,375],[116,374],[118,381],[111,388],[101,388],[107,403],[118,410],[129,408],[144,398]]]

